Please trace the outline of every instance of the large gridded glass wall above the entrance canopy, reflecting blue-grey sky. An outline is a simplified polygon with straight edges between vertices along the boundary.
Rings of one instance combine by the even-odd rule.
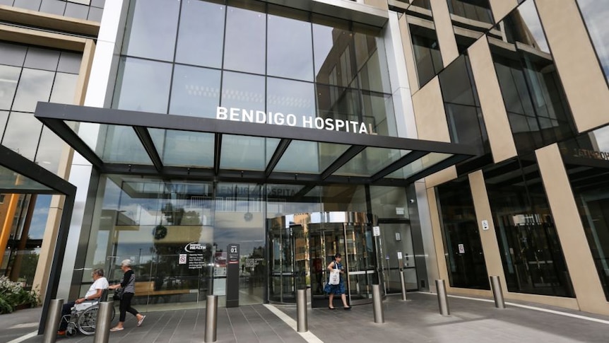
[[[378,30],[264,2],[227,4],[131,0],[113,107],[215,118],[221,106],[264,114],[254,122],[313,128],[315,117],[332,118],[396,136]]]

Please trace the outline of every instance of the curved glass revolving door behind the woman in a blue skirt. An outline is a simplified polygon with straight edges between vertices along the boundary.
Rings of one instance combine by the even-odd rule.
[[[372,302],[372,284],[379,284],[377,237],[372,234],[375,225],[375,216],[360,212],[315,212],[269,219],[269,301],[295,303],[296,290],[309,287],[312,306],[327,306],[326,267],[340,253],[347,301],[351,305]],[[335,298],[340,301],[340,297]]]

